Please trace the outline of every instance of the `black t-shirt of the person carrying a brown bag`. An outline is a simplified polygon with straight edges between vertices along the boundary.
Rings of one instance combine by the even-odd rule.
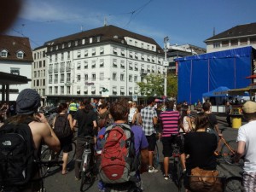
[[[184,152],[189,154],[186,167],[215,170],[217,162],[213,153],[218,146],[217,137],[207,132],[189,132],[184,137]]]

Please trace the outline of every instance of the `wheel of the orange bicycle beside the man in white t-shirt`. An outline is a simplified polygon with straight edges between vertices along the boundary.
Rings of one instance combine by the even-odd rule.
[[[233,157],[234,157],[235,153],[233,153],[232,151],[235,152],[236,148],[237,148],[236,140],[227,141],[227,145],[224,143],[221,148],[221,155],[227,164],[234,165],[234,166],[242,166],[243,160],[240,160],[240,162],[238,164],[233,163]]]

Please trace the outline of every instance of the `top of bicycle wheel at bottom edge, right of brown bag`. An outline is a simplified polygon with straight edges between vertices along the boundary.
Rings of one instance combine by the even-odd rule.
[[[241,192],[242,177],[228,177],[224,182],[224,192]]]

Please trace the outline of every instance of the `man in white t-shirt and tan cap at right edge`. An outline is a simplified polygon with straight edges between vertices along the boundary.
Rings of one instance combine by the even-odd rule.
[[[242,110],[248,123],[239,128],[235,162],[244,155],[243,186],[249,192],[256,189],[256,102],[246,102]]]

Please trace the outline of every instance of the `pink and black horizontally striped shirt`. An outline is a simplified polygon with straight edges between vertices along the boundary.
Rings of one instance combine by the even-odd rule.
[[[180,115],[178,111],[163,111],[160,113],[160,120],[163,125],[162,137],[171,137],[178,134],[178,120]]]

